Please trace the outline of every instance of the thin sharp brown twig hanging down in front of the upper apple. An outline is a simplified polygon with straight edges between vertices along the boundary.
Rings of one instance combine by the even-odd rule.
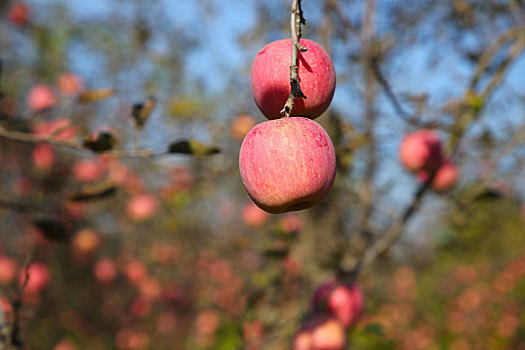
[[[299,67],[297,66],[298,52],[307,51],[306,47],[299,43],[301,38],[301,25],[306,24],[301,8],[301,0],[292,1],[292,15],[290,17],[290,31],[292,33],[292,62],[290,64],[290,96],[286,100],[281,114],[283,118],[288,118],[292,113],[295,98],[306,99],[306,95],[301,90],[299,82]]]

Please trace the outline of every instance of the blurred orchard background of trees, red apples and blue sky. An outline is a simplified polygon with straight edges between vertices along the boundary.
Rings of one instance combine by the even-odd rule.
[[[525,349],[523,2],[304,0],[337,177],[269,215],[238,152],[290,3],[0,1],[1,348],[289,349],[315,288],[395,228],[348,349]],[[460,178],[417,198],[397,152],[421,128]]]

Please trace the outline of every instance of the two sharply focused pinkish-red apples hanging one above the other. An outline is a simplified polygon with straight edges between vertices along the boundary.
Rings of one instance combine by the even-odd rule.
[[[270,119],[253,127],[241,146],[239,168],[253,201],[270,213],[311,208],[328,195],[335,178],[330,137],[312,119],[330,105],[335,71],[328,53],[301,39],[298,75],[306,99],[296,98],[291,118],[281,117],[290,94],[291,39],[268,44],[255,57],[251,85],[255,102]]]

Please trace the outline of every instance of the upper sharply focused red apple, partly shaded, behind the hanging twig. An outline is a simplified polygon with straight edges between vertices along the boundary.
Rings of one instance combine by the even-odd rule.
[[[308,51],[299,52],[297,64],[301,90],[306,99],[296,99],[291,116],[314,119],[332,102],[335,70],[328,53],[316,42],[300,39]],[[252,64],[251,84],[255,103],[268,119],[281,116],[290,95],[292,40],[282,39],[266,45]]]

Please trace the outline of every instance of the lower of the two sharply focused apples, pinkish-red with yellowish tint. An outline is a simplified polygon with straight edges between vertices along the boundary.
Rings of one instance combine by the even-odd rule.
[[[244,138],[239,168],[248,195],[261,209],[303,210],[323,201],[334,184],[334,146],[311,119],[270,120]]]

